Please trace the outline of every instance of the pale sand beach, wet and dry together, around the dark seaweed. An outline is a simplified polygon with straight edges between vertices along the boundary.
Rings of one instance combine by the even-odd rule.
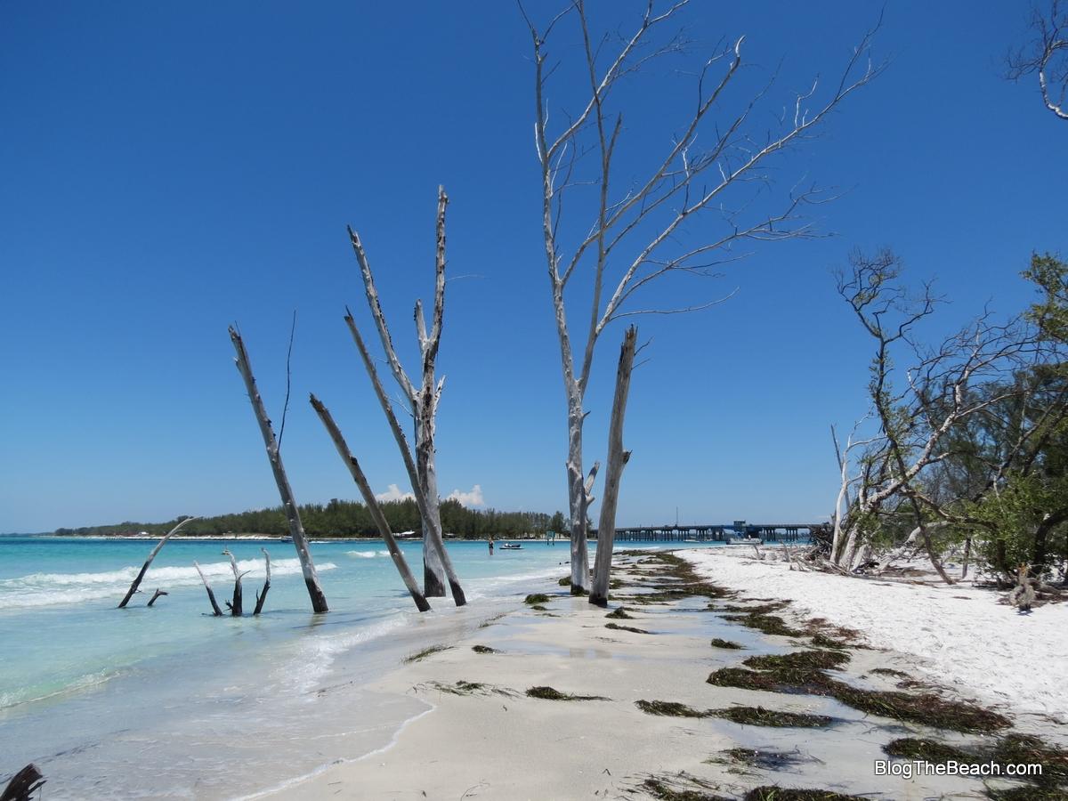
[[[920,635],[910,640],[904,624],[893,624],[901,619],[915,622],[917,628],[929,625],[944,595],[968,599],[959,603],[973,615],[969,618],[974,622],[971,638],[979,643],[994,639],[981,628],[989,619],[1015,614],[995,606],[989,594],[979,597],[979,591],[954,587],[942,593],[917,584],[883,587],[822,574],[794,576],[785,566],[780,569],[728,555],[722,548],[694,549],[685,555],[716,583],[743,591],[744,595],[732,600],[734,604],[744,606],[752,598],[794,598],[796,603],[781,613],[788,621],[799,619],[790,612],[797,606],[838,625],[863,627],[876,647],[850,650],[849,663],[833,674],[868,689],[895,687],[896,678],[870,672],[876,668],[893,668],[933,685],[943,684],[931,681],[941,678],[936,675],[941,663],[934,661],[937,655],[928,641]],[[764,634],[724,621],[709,612],[707,598],[700,596],[663,604],[628,603],[629,594],[648,592],[645,586],[656,581],[651,578],[656,568],[641,556],[619,561],[626,568],[616,575],[628,586],[613,595],[611,608],[625,603],[631,619],[606,619],[608,610],[553,585],[546,591],[551,596],[545,603],[547,611],[520,607],[468,639],[440,643],[447,647],[400,665],[366,688],[420,698],[427,705],[427,711],[409,721],[392,745],[362,758],[354,755],[351,760],[266,795],[398,801],[668,797],[657,795],[654,787],[660,787],[690,789],[705,794],[692,798],[711,799],[741,798],[756,787],[780,786],[885,799],[984,797],[979,779],[877,776],[874,766],[886,758],[882,747],[895,738],[927,736],[983,744],[989,737],[867,716],[830,697],[709,685],[712,671],[738,665],[754,654],[796,650],[807,645],[806,638]],[[635,584],[641,586],[635,588]],[[833,614],[835,606],[854,611]],[[1025,624],[1041,632],[1036,642],[1045,638],[1055,647],[1064,619],[1064,610],[1039,610]],[[607,628],[609,623],[647,633]],[[955,618],[948,623],[948,628],[958,625]],[[1015,619],[1010,623],[1019,625]],[[1009,625],[1004,628],[1011,630]],[[1000,635],[1002,628],[996,631]],[[711,647],[710,638],[737,642],[743,649]],[[957,631],[954,638],[946,641],[946,650],[956,656],[947,654],[945,664],[967,665],[977,646],[965,650],[958,643],[968,639],[967,632]],[[891,644],[896,648],[880,649]],[[1003,645],[1011,653],[1018,643],[1003,641]],[[473,646],[493,650],[478,653]],[[986,664],[991,668],[993,663]],[[978,668],[960,666],[954,673],[946,668],[947,687],[938,692],[951,700],[1001,698],[1005,703],[1000,708],[1020,731],[1035,732],[1038,726],[1051,741],[1064,741],[1063,728],[1033,713],[1057,711],[1049,692],[1032,687],[1039,680],[1001,680],[999,672],[990,670],[991,677],[970,686],[967,679],[978,672]],[[529,697],[527,690],[537,687],[602,700]],[[929,685],[925,691],[930,691]],[[823,728],[772,728],[716,717],[658,717],[640,709],[639,701],[677,702],[696,710],[760,706],[827,714],[835,722]],[[1017,716],[1018,707],[1032,713]],[[740,764],[726,753],[734,748],[785,755],[786,764],[781,769]]]

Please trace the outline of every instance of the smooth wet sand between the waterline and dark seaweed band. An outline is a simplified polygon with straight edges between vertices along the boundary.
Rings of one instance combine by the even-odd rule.
[[[632,563],[634,560],[629,560]],[[641,570],[646,567],[638,568]],[[713,572],[716,572],[713,570]],[[830,578],[830,577],[828,577]],[[876,776],[883,744],[909,732],[953,741],[975,737],[905,727],[868,718],[838,702],[811,695],[714,687],[708,674],[736,665],[754,653],[781,653],[796,645],[723,621],[696,597],[666,606],[637,606],[633,619],[615,621],[653,633],[606,628],[606,611],[553,585],[550,614],[520,609],[447,649],[399,666],[368,688],[421,698],[427,712],[410,721],[382,751],[329,767],[295,781],[274,797],[286,799],[641,799],[649,776],[676,787],[740,798],[756,786],[821,787],[869,798],[980,798],[976,779]],[[621,598],[624,593],[619,591]],[[752,593],[767,598],[779,587]],[[613,607],[616,606],[613,603]],[[710,638],[742,643],[745,650],[712,648]],[[429,643],[428,643],[429,645]],[[492,647],[478,654],[473,645]],[[893,689],[868,673],[905,656],[852,651],[836,677]],[[443,688],[478,682],[470,694]],[[602,695],[607,701],[545,701],[528,688]],[[718,718],[654,717],[639,700],[674,701],[696,709],[735,704],[817,712],[839,719],[824,729],[767,728]],[[723,751],[736,745],[792,752],[798,763],[766,771],[733,764]]]

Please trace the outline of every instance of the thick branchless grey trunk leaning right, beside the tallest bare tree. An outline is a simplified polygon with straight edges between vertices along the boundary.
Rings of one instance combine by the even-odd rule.
[[[612,547],[615,541],[615,509],[619,502],[619,482],[623,469],[630,459],[630,451],[623,450],[623,421],[627,414],[627,394],[630,374],[634,368],[634,343],[638,329],[631,326],[623,337],[619,349],[619,367],[615,375],[615,399],[608,429],[608,462],[604,471],[604,497],[601,499],[600,522],[597,524],[597,560],[594,582],[590,588],[590,602],[608,606],[609,577],[612,571]]]

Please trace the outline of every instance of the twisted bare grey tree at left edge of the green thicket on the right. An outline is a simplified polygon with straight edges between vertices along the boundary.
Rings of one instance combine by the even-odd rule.
[[[850,438],[846,451],[838,451],[843,478],[831,562],[844,569],[865,562],[879,513],[891,499],[899,499],[914,517],[916,531],[910,538],[918,538],[938,574],[953,583],[930,537],[931,529],[940,528],[934,521],[952,516],[924,494],[920,480],[949,456],[947,441],[956,427],[1017,392],[1006,386],[976,395],[971,388],[1009,375],[1032,340],[1016,321],[999,325],[985,313],[937,347],[925,347],[915,339],[915,329],[934,313],[938,298],[929,284],[910,298],[899,277],[900,260],[886,249],[874,256],[854,251],[850,270],[838,276],[838,294],[875,343],[868,395],[878,431],[858,443]],[[902,361],[905,368],[895,366]],[[850,477],[849,451],[854,444],[864,449],[859,472]],[[844,516],[841,502],[849,499],[851,485],[857,489]]]

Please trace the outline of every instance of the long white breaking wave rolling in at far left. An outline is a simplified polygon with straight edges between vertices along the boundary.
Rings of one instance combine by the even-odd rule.
[[[271,578],[299,574],[300,560],[271,560]],[[316,565],[317,570],[332,570],[337,565],[326,562]],[[82,601],[99,600],[113,597],[128,587],[137,578],[140,567],[123,567],[119,570],[100,572],[35,572],[16,579],[0,580],[0,609],[21,609],[28,607],[47,607],[63,603],[80,603]],[[209,562],[201,565],[205,578],[227,579],[234,574],[230,562]],[[247,572],[246,578],[253,580],[263,578],[264,561],[262,559],[238,560],[237,569]],[[197,586],[201,583],[197,568],[189,567],[151,567],[145,574],[145,585],[160,588]]]

